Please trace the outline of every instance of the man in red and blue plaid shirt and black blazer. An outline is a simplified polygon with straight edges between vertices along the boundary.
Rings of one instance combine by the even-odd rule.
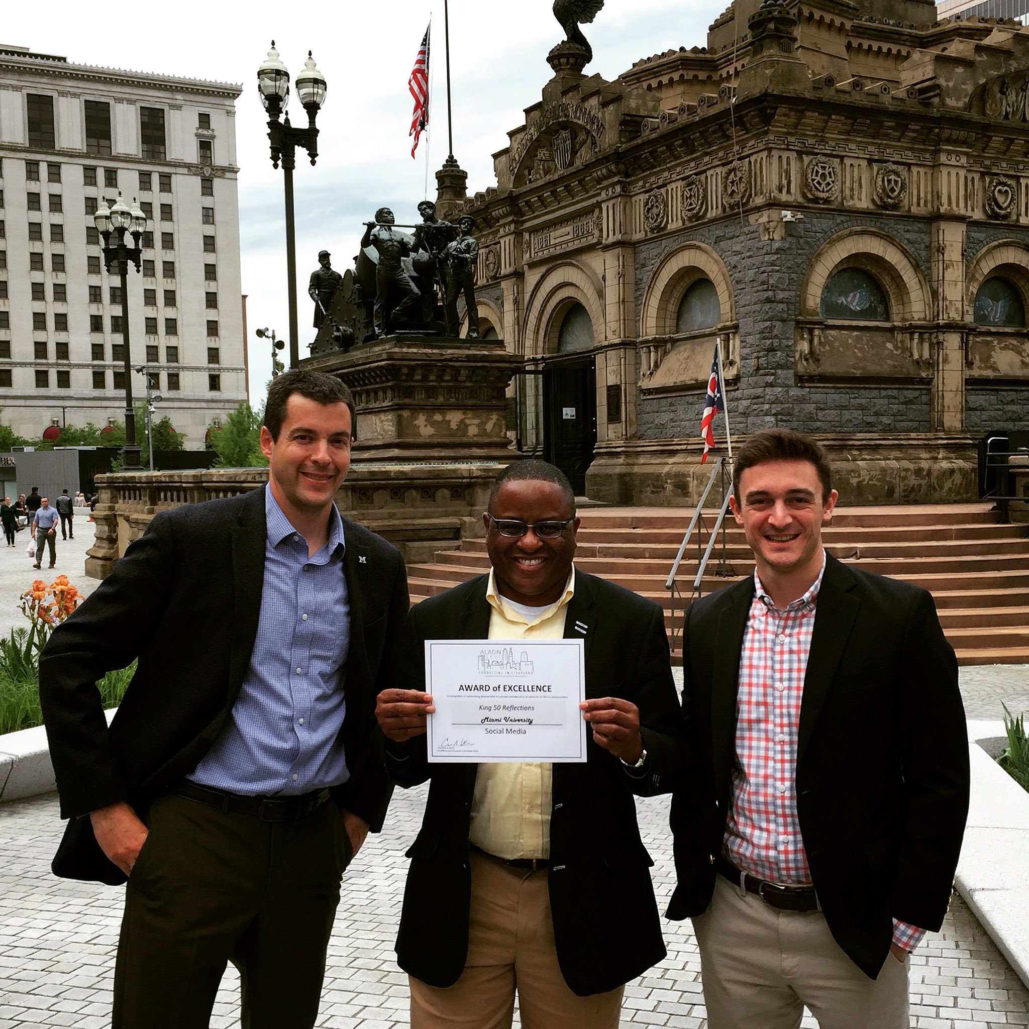
[[[947,913],[968,809],[957,662],[932,597],[841,564],[825,451],[737,455],[755,574],[688,609],[690,773],[673,919],[694,918],[711,1029],[908,1025],[908,956]]]

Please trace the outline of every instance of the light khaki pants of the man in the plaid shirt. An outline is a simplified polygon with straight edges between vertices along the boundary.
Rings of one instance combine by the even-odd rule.
[[[821,1029],[908,1029],[908,963],[868,979],[821,912],[778,911],[723,876],[694,920],[708,1029],[797,1029],[804,1005]]]

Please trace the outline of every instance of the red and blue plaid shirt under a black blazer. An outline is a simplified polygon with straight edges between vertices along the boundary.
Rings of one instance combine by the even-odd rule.
[[[796,814],[796,744],[804,676],[815,628],[822,568],[811,589],[776,607],[754,570],[754,599],[740,654],[736,767],[724,849],[757,879],[811,885]],[[893,942],[914,951],[924,929],[893,920]]]

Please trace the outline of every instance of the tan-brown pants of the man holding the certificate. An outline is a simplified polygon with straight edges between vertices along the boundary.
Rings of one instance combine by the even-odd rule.
[[[561,975],[546,873],[472,851],[468,960],[448,989],[411,977],[412,1029],[510,1029],[516,990],[523,1029],[617,1029],[620,988],[577,997]]]

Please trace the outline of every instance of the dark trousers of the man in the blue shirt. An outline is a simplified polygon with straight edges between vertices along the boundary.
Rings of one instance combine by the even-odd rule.
[[[263,822],[166,794],[146,820],[126,886],[112,1029],[207,1029],[228,961],[243,1029],[314,1026],[353,856],[335,805]]]

